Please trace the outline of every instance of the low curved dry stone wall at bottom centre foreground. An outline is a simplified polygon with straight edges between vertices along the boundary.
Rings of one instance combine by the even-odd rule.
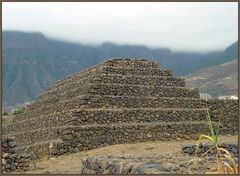
[[[177,174],[159,161],[137,157],[89,157],[82,164],[81,174]]]

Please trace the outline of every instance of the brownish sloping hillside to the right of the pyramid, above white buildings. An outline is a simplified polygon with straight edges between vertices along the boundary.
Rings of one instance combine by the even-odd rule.
[[[186,85],[197,87],[199,92],[219,95],[235,95],[238,91],[237,59],[224,64],[211,66],[186,76]]]

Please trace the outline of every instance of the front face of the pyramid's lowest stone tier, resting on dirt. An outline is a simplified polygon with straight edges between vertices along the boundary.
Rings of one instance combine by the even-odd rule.
[[[196,139],[200,132],[208,132],[204,122],[191,121],[182,123],[150,122],[129,124],[126,122],[117,125],[77,125],[65,126],[55,130],[58,136],[45,138],[46,141],[51,141],[54,145],[52,155],[74,153],[114,144],[154,140]],[[38,131],[38,133],[40,133],[39,135],[44,135],[44,131]],[[47,146],[44,147],[45,149],[42,143],[40,143],[39,145],[29,146],[29,151],[32,151],[34,148],[37,156],[46,156],[50,151],[46,148]]]

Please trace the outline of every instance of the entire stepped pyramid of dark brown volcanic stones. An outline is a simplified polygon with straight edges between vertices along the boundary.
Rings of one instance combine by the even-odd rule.
[[[3,127],[39,158],[101,146],[195,138],[208,131],[197,89],[155,61],[112,59],[56,81]]]

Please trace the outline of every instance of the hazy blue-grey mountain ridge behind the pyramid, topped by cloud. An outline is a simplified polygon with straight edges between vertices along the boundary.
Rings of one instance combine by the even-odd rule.
[[[42,33],[2,32],[3,107],[32,101],[57,79],[112,57],[159,60],[176,76],[231,61],[237,57],[237,42],[224,51],[206,54],[172,52],[142,45],[82,45],[45,37]]]

